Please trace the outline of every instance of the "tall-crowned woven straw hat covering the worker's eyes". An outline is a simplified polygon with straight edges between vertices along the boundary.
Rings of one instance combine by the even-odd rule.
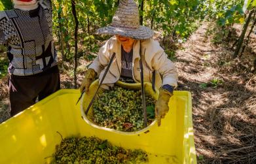
[[[143,25],[139,25],[139,10],[134,0],[120,0],[111,25],[98,29],[97,33],[122,35],[133,39],[149,39],[154,32]]]

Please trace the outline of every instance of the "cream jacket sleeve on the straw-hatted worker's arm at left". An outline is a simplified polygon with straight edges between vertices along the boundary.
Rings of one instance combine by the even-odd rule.
[[[111,41],[107,41],[99,50],[98,56],[92,61],[89,69],[94,69],[94,71],[99,75],[100,72],[109,63],[109,46]]]

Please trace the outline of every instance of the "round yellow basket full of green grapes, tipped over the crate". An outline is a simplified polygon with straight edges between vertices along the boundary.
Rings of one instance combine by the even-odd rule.
[[[144,84],[147,127],[143,120],[140,83],[130,84],[118,81],[111,90],[99,91],[88,114],[85,114],[98,85],[98,80],[94,81],[88,93],[82,96],[81,114],[86,123],[97,129],[125,135],[145,133],[156,124],[154,107],[158,99],[158,90],[153,91],[149,82]]]

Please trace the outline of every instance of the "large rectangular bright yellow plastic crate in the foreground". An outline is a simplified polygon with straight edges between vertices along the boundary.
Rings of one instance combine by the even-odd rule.
[[[50,163],[63,137],[96,136],[124,148],[141,148],[149,163],[196,163],[192,131],[191,93],[175,91],[170,111],[158,127],[134,135],[113,133],[89,125],[75,105],[79,90],[60,90],[0,124],[0,163]]]

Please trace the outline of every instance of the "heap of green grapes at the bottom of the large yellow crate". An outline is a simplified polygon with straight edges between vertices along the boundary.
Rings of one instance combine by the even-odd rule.
[[[142,163],[148,157],[142,150],[125,150],[96,137],[69,137],[56,146],[52,164]]]

